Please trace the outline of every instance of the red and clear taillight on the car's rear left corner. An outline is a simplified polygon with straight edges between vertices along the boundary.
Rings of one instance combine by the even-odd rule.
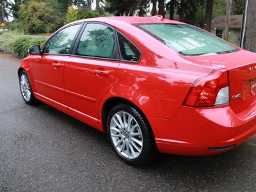
[[[186,97],[184,105],[211,107],[229,102],[228,71],[214,70],[209,76],[197,79]]]

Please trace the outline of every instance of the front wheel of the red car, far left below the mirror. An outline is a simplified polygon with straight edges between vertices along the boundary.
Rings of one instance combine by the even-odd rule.
[[[36,99],[33,95],[31,83],[28,78],[28,74],[22,70],[19,74],[20,93],[26,104],[32,105],[36,103]]]

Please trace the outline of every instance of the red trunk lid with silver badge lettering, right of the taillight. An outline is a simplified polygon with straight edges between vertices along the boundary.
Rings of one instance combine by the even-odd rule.
[[[200,65],[228,70],[229,105],[239,113],[256,103],[256,54],[240,50],[211,56],[184,57]]]

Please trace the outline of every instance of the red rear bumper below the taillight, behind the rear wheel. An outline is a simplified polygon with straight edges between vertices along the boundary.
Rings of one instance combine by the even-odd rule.
[[[235,114],[229,106],[182,106],[173,119],[150,118],[160,152],[188,156],[219,154],[256,134],[256,106]]]

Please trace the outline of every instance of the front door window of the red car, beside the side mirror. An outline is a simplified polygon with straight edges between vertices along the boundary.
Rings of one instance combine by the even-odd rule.
[[[69,48],[81,24],[70,26],[56,33],[46,43],[44,52],[49,54],[68,54]]]

